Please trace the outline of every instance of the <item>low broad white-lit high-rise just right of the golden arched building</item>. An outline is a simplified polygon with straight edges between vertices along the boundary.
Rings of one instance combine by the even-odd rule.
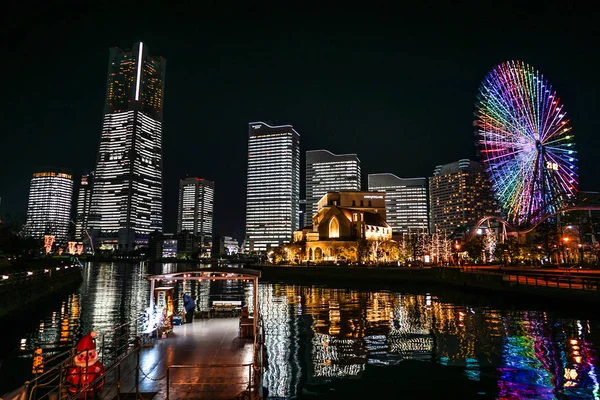
[[[429,231],[427,178],[369,174],[369,191],[385,192],[387,223],[393,234]]]

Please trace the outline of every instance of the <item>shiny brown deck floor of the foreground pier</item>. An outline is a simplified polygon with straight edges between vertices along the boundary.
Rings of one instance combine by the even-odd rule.
[[[169,365],[182,366],[170,368],[170,399],[242,398],[251,367],[239,365],[252,363],[254,342],[238,335],[239,318],[196,319],[191,324],[175,326],[168,338],[157,339],[153,347],[141,350],[141,398],[167,398]],[[192,365],[196,367],[191,368]],[[135,354],[124,361],[121,393],[135,393],[135,366]],[[99,397],[117,398],[116,373],[107,376]]]

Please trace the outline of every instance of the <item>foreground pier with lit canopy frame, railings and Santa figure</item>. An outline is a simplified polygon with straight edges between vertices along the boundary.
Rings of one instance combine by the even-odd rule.
[[[140,318],[99,332],[96,346],[105,373],[86,387],[78,387],[75,397],[104,382],[98,399],[261,399],[264,337],[258,313],[260,275],[260,271],[241,268],[204,268],[149,276],[151,308],[160,310],[161,306],[155,304],[154,290],[170,288],[158,288],[155,283],[172,285],[183,280],[250,281],[253,307],[248,315],[210,318],[209,313],[174,326],[159,322],[148,327]],[[46,360],[39,376],[2,399],[70,398],[65,377],[74,355],[75,349],[71,349]]]

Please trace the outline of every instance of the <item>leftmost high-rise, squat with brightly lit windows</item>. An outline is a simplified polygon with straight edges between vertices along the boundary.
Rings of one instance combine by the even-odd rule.
[[[73,179],[64,172],[36,172],[29,187],[27,204],[28,236],[42,238],[54,235],[56,241],[65,241],[71,221]]]

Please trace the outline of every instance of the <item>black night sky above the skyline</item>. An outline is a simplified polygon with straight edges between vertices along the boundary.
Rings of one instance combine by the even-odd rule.
[[[78,176],[95,167],[108,49],[139,40],[167,59],[166,232],[176,227],[179,178],[189,174],[215,181],[216,233],[243,238],[250,121],[294,125],[302,153],[357,153],[365,189],[368,173],[430,176],[437,164],[475,158],[478,86],[513,59],[558,92],[576,135],[580,189],[600,190],[595,8],[85,3],[19,2],[0,16],[4,213],[26,213],[35,170],[63,166]]]

